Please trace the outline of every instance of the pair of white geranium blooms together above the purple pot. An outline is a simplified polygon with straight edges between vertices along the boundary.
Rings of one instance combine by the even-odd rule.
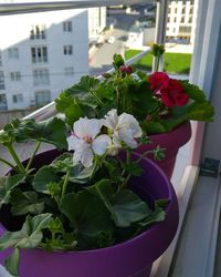
[[[102,126],[108,129],[107,134],[101,134]],[[74,123],[73,134],[67,137],[69,151],[73,150],[74,162],[81,162],[84,167],[93,165],[94,155],[115,155],[124,142],[130,148],[136,148],[137,137],[141,129],[137,120],[127,113],[117,115],[116,110],[109,111],[103,120],[80,119]]]

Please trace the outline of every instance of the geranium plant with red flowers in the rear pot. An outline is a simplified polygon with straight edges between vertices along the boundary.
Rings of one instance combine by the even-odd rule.
[[[101,119],[110,109],[133,114],[147,134],[169,132],[189,120],[212,121],[212,105],[189,81],[171,79],[164,72],[137,71],[119,54],[114,55],[113,65],[114,73],[104,73],[101,80],[82,76],[55,100],[69,124],[78,116]]]

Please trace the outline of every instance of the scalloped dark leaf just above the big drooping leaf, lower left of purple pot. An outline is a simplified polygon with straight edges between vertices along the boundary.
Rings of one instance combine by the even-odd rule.
[[[13,189],[10,195],[12,204],[11,213],[13,215],[41,214],[44,209],[44,203],[38,199],[35,192],[22,192],[18,188]]]

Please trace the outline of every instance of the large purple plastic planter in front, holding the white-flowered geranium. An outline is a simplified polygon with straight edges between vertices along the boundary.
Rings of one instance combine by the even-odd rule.
[[[44,152],[35,165],[52,161],[55,151]],[[138,157],[138,154],[134,154]],[[166,219],[125,243],[87,252],[53,252],[22,249],[20,277],[148,277],[151,264],[167,249],[178,227],[178,202],[165,173],[150,160],[141,161],[144,174],[131,179],[133,189],[151,203],[168,198]],[[0,224],[0,235],[6,232]],[[0,264],[9,255],[0,253]]]

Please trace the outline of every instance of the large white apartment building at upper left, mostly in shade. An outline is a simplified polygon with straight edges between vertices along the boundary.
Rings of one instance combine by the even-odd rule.
[[[88,35],[105,25],[106,8],[1,17],[0,111],[44,105],[87,74]]]

